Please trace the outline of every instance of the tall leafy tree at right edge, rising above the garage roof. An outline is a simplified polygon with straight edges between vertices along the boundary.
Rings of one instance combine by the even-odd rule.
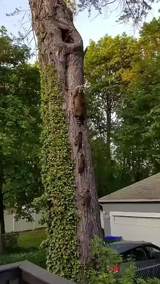
[[[117,153],[123,153],[131,182],[157,173],[159,167],[159,19],[144,24],[139,46],[142,60],[126,92],[122,125],[115,135]]]

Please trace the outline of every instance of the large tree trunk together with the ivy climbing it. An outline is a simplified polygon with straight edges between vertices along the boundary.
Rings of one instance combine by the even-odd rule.
[[[62,0],[31,0],[32,25],[38,38],[43,119],[42,175],[47,207],[47,267],[73,279],[76,261],[90,260],[89,241],[101,234],[88,129],[81,126],[86,167],[78,173],[72,92],[84,84],[83,42],[73,15]],[[81,194],[90,189],[89,209]],[[77,262],[78,263],[78,262]]]

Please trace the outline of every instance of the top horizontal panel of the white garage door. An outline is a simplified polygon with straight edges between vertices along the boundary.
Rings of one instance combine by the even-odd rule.
[[[116,224],[160,227],[160,218],[115,216],[114,222]]]

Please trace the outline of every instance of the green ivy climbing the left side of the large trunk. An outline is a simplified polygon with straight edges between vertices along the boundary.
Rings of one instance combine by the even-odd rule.
[[[48,270],[73,278],[77,260],[74,164],[59,80],[53,66],[41,70],[42,180],[47,204]]]

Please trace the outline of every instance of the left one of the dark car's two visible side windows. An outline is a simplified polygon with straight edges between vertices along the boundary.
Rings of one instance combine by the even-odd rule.
[[[147,260],[146,253],[143,248],[134,248],[121,254],[123,261],[143,261]]]

